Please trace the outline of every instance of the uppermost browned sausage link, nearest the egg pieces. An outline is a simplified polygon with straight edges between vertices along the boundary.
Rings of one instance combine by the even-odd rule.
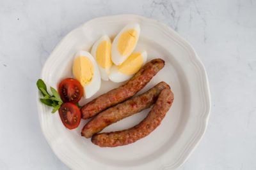
[[[134,96],[139,92],[147,83],[153,78],[156,73],[164,67],[164,60],[154,59],[147,62],[145,66],[127,81],[125,85],[122,85],[116,89],[110,90],[106,94],[102,94],[90,103],[85,104],[81,108],[82,118],[87,119],[97,115],[100,111],[106,110],[110,106],[121,103],[126,99]]]

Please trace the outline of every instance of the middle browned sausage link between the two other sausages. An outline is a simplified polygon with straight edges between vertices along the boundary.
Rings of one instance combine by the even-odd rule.
[[[130,117],[134,113],[138,113],[141,110],[150,107],[156,102],[157,97],[163,89],[170,89],[170,86],[162,81],[140,96],[136,96],[102,111],[99,115],[84,125],[81,132],[82,136],[91,138],[93,134],[102,131],[102,129],[108,125],[118,122],[125,117]]]

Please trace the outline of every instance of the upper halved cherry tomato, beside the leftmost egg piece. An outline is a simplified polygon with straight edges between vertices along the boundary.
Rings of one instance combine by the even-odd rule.
[[[59,84],[58,91],[64,103],[77,103],[83,96],[83,87],[79,81],[74,78],[66,78]]]

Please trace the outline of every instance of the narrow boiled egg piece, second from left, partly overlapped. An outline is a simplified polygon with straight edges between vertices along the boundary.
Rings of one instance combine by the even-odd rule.
[[[92,55],[99,66],[102,80],[108,81],[109,70],[113,62],[111,60],[111,40],[107,35],[102,36],[94,43]]]

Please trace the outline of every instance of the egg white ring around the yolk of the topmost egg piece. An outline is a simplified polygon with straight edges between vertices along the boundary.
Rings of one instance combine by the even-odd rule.
[[[113,61],[113,63],[116,66],[119,66],[120,64],[122,64],[133,52],[134,48],[132,48],[131,53],[127,53],[127,55],[121,55],[120,52],[118,51],[118,40],[120,38],[120,36],[125,32],[128,31],[129,29],[134,29],[136,30],[137,34],[138,34],[138,38],[136,39],[136,43],[134,45],[134,48],[136,47],[137,43],[138,43],[138,39],[140,37],[140,24],[128,24],[126,25],[115,37],[115,39],[113,40],[112,43],[112,50],[111,50],[111,59]]]

